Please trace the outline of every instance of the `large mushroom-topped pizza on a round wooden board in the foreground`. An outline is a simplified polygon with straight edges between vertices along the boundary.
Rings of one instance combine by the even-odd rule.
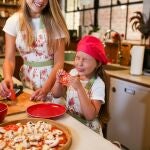
[[[68,150],[68,128],[48,119],[23,119],[0,126],[0,150]]]

